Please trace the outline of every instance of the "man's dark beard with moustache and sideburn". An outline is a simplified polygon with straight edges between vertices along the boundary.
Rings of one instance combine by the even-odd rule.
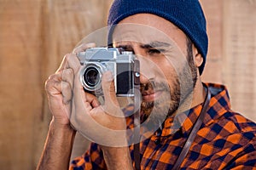
[[[194,64],[192,52],[188,51],[188,65],[183,66],[179,73],[176,73],[172,82],[172,87],[166,82],[156,82],[149,80],[147,83],[141,84],[140,91],[158,91],[162,94],[158,99],[147,102],[142,101],[141,113],[142,122],[153,122],[153,124],[161,125],[167,117],[175,116],[179,109],[186,111],[189,109],[195,84],[197,81],[197,69]],[[176,114],[174,114],[176,113]]]

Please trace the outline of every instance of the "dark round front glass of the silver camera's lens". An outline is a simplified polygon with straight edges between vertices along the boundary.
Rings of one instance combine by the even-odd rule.
[[[84,71],[84,82],[90,86],[95,87],[100,80],[99,71],[94,67],[89,67]]]

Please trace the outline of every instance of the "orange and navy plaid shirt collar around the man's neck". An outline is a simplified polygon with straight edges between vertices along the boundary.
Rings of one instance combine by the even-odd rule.
[[[202,126],[210,125],[219,116],[222,116],[226,110],[230,109],[230,98],[227,89],[218,84],[207,83],[206,85],[212,93],[212,98]],[[202,105],[196,105],[189,111],[179,113],[175,117],[166,118],[161,136],[166,137],[173,133],[181,132],[183,137],[188,137],[191,128],[201,113]]]

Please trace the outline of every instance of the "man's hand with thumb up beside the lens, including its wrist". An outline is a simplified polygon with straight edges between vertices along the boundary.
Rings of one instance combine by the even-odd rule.
[[[65,77],[62,78],[67,83],[65,87],[68,88],[65,89],[73,91],[62,94],[65,96],[66,110],[73,127],[102,146],[108,169],[132,169],[126,141],[125,116],[116,98],[112,72],[107,71],[102,75],[104,105],[100,105],[96,96],[84,92],[80,82],[81,66],[77,57],[67,56],[65,70]]]

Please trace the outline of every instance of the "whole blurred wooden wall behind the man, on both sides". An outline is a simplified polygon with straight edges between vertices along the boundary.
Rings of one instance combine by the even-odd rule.
[[[44,81],[64,54],[106,26],[112,0],[0,0],[0,167],[35,169],[50,114]],[[256,120],[256,1],[201,0],[210,49],[206,82],[230,88],[234,110]],[[86,147],[76,140],[73,156]]]

